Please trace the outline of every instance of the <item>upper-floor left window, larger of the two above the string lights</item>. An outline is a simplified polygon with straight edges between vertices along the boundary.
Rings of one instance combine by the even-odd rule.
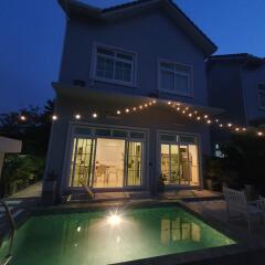
[[[96,78],[132,85],[134,72],[135,54],[109,47],[96,47]]]

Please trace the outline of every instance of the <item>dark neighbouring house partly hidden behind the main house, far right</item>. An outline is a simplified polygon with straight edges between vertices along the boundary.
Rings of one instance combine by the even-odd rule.
[[[265,120],[265,60],[248,53],[210,56],[206,62],[209,104],[225,109],[224,120],[258,126]],[[212,146],[229,134],[212,130]]]

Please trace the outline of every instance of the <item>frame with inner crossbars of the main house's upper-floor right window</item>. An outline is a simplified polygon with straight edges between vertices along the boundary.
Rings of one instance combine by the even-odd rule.
[[[189,70],[190,74],[188,75],[189,77],[189,92],[188,93],[184,93],[184,92],[181,92],[181,91],[178,91],[174,89],[173,91],[169,91],[169,89],[165,89],[161,87],[160,83],[161,83],[161,71],[162,71],[162,67],[161,67],[161,63],[166,63],[166,64],[174,64],[179,67],[183,67],[183,68],[187,68]],[[163,92],[163,93],[168,93],[168,94],[171,94],[171,95],[179,95],[179,96],[186,96],[186,97],[193,97],[193,67],[191,65],[188,65],[188,64],[183,64],[183,63],[179,63],[177,61],[171,61],[171,60],[167,60],[167,59],[158,59],[158,91],[159,92]],[[172,70],[165,70],[165,71],[168,71],[168,72],[171,72],[174,74],[177,74],[178,71]],[[181,74],[181,75],[186,75],[186,74]],[[174,86],[176,86],[176,82],[174,82]]]

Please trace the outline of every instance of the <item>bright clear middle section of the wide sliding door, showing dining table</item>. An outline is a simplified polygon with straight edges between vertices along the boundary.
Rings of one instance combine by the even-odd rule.
[[[125,140],[97,139],[94,188],[124,186]]]

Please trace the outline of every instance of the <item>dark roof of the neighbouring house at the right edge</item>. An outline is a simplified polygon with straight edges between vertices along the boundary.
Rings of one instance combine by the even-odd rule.
[[[243,64],[253,64],[253,65],[262,65],[265,63],[264,57],[258,57],[250,53],[231,53],[231,54],[220,54],[212,55],[208,59],[209,63],[214,62],[239,62]]]

